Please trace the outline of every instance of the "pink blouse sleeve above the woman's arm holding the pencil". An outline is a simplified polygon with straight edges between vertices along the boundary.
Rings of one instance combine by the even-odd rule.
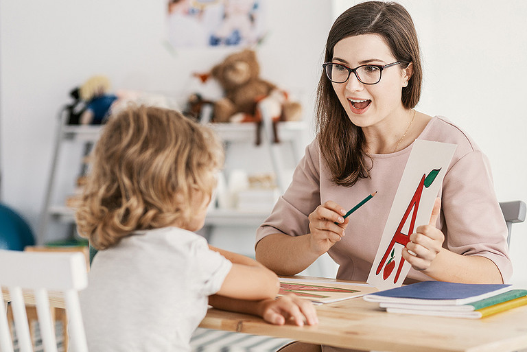
[[[309,232],[310,213],[320,205],[320,154],[316,139],[294,170],[292,183],[256,233],[256,243],[273,233],[301,236]]]

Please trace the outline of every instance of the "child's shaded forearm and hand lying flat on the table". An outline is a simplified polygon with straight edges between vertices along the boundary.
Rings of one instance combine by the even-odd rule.
[[[318,324],[316,309],[311,301],[294,295],[261,301],[244,301],[214,294],[209,296],[209,304],[215,308],[261,316],[267,322],[283,325],[291,320],[295,325]]]

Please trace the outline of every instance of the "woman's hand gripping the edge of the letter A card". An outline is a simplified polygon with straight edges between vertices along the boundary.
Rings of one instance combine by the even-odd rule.
[[[410,242],[402,250],[402,257],[412,265],[415,270],[427,270],[432,261],[443,248],[445,235],[436,228],[436,221],[441,213],[441,198],[436,198],[430,222],[428,225],[419,226],[415,233],[410,235]]]

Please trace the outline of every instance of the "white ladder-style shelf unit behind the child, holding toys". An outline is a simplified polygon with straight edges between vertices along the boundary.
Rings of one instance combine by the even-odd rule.
[[[226,123],[226,124],[209,124],[218,134],[218,137],[224,142],[226,154],[229,152],[229,145],[231,143],[255,143],[255,124],[250,123]],[[51,204],[54,193],[56,192],[56,178],[60,169],[64,167],[60,164],[60,153],[64,148],[65,141],[73,143],[95,143],[99,138],[102,126],[68,126],[66,124],[66,117],[60,117],[58,127],[56,130],[56,141],[54,145],[54,154],[51,162],[51,171],[47,183],[45,193],[45,202],[43,211],[40,214],[40,223],[38,226],[37,242],[43,244],[47,241],[48,228],[50,222],[63,222],[74,224],[74,211],[65,205],[65,200],[62,204]],[[302,134],[305,130],[305,124],[302,121],[285,121],[279,123],[279,136],[281,143],[289,143],[294,160],[297,162],[300,152],[300,141],[302,141]],[[281,155],[280,151],[270,143],[271,129],[264,126],[262,128],[262,148],[268,148],[270,160],[272,162],[273,171],[277,176],[277,183],[280,191],[285,190],[283,185],[283,177],[281,177]],[[82,161],[79,165],[81,165]],[[72,184],[74,180],[72,180]],[[269,211],[262,212],[248,212],[238,211],[236,209],[211,209],[205,219],[205,232],[210,234],[214,226],[257,226],[264,222],[269,215]]]

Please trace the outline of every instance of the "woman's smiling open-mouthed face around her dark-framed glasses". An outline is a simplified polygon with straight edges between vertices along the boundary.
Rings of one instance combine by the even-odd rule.
[[[355,69],[362,64],[385,65],[396,62],[382,36],[362,34],[340,40],[333,48],[331,62]],[[376,126],[386,118],[394,117],[404,108],[401,91],[411,75],[408,69],[396,64],[382,70],[377,84],[363,84],[354,73],[344,83],[333,83],[340,104],[351,122],[359,127]]]

